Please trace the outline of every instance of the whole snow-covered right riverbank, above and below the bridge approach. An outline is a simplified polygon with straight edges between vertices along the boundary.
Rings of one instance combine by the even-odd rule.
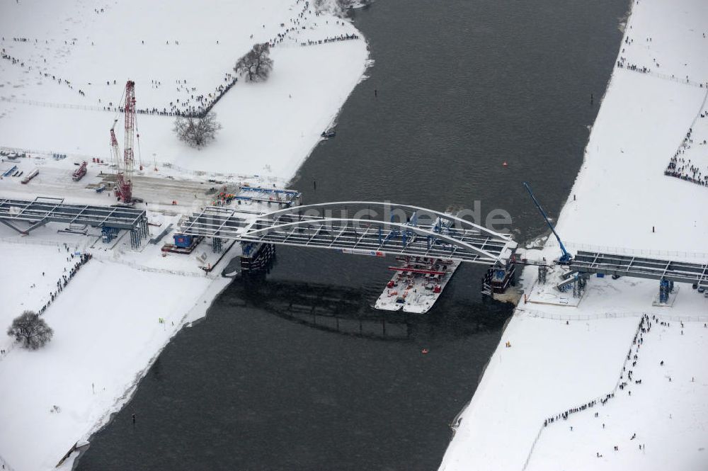
[[[692,162],[708,163],[697,145],[708,129],[695,125],[708,92],[708,4],[634,1],[624,33],[623,67],[612,73],[558,232],[571,250],[707,263],[706,188],[663,171],[691,128]],[[548,242],[526,256],[554,259],[559,248]],[[708,299],[679,284],[673,307],[656,307],[655,280],[590,278],[577,307],[545,305],[533,302],[536,278],[534,267],[523,272],[532,302],[508,324],[440,470],[708,469]],[[620,375],[627,380],[622,367],[643,314],[659,322],[644,334],[629,388],[544,427],[611,394]]]

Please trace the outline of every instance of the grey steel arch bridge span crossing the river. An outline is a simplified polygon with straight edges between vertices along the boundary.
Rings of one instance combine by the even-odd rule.
[[[372,256],[423,256],[486,265],[506,264],[517,246],[507,234],[450,213],[370,201],[292,206],[265,214],[212,206],[183,220],[180,232],[242,243]]]

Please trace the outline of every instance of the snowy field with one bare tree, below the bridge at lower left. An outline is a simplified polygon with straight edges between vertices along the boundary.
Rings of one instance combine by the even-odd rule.
[[[0,244],[0,257],[16,268],[0,272],[1,285],[15,288],[4,296],[3,325],[25,307],[38,307],[35,300],[67,265],[66,254],[53,246]],[[45,276],[38,276],[41,271]],[[38,279],[47,283],[30,288]],[[3,458],[16,470],[57,465],[125,402],[185,314],[200,307],[210,282],[96,259],[86,263],[42,316],[55,332],[50,344],[26,351],[2,341],[9,349],[0,361]]]

